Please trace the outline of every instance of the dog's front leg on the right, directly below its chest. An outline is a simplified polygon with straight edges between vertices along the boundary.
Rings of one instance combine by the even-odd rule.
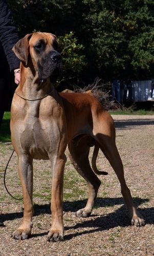
[[[51,212],[52,212],[52,225],[48,233],[48,241],[63,241],[63,211],[62,211],[62,189],[63,189],[63,172],[66,157],[52,159],[52,199],[51,199]]]

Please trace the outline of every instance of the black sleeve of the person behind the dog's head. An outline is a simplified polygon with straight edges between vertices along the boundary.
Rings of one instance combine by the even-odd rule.
[[[0,0],[0,41],[2,42],[10,70],[19,68],[19,59],[12,51],[13,46],[19,40],[11,11],[5,0]]]

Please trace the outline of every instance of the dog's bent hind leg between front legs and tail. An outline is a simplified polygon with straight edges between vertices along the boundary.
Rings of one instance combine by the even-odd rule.
[[[90,146],[87,145],[85,139],[86,138],[81,139],[78,143],[71,141],[68,145],[70,160],[77,172],[86,180],[89,187],[89,197],[86,206],[76,212],[77,217],[87,217],[91,215],[94,200],[97,197],[98,188],[101,184],[90,166]]]

